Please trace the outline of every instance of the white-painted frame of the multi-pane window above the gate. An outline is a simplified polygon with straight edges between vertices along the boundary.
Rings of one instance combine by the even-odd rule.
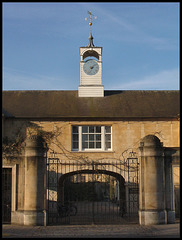
[[[78,133],[75,133],[73,132],[73,129],[74,127],[77,127],[78,128]],[[101,133],[97,133],[97,132],[94,132],[94,133],[83,133],[82,132],[82,129],[83,127],[101,127]],[[110,133],[107,133],[106,132],[106,127],[110,127]],[[74,142],[77,142],[77,141],[74,141],[74,138],[73,138],[73,135],[78,135],[78,148],[74,148]],[[89,138],[89,135],[99,135],[101,134],[101,147],[100,148],[83,148],[83,142],[82,142],[82,137],[83,135],[88,135],[88,138]],[[107,148],[106,147],[106,135],[110,135],[110,148]],[[95,137],[94,137],[94,140],[95,140]],[[90,141],[90,142],[94,142],[94,145],[97,143],[97,140],[95,141]],[[99,142],[99,141],[98,141]],[[89,140],[88,140],[88,144],[89,144]],[[110,152],[112,151],[112,125],[72,125],[71,127],[71,151],[72,152],[101,152],[101,151],[104,151],[104,152]]]

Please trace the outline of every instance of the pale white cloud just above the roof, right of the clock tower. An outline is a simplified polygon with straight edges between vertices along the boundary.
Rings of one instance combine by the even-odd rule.
[[[178,69],[164,70],[153,75],[144,76],[141,79],[131,79],[111,88],[123,90],[177,90],[179,89],[179,71]]]

